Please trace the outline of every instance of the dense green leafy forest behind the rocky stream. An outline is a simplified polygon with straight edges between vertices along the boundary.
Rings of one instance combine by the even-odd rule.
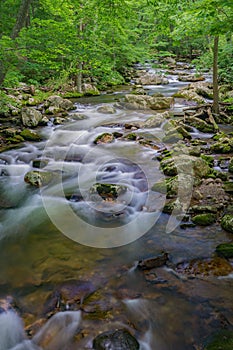
[[[194,60],[233,82],[232,0],[1,0],[0,85],[124,83],[132,63]],[[214,56],[214,60],[213,60]]]

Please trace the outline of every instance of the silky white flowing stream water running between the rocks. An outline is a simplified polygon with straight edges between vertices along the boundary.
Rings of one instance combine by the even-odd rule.
[[[176,75],[167,78],[168,85],[145,89],[171,96],[187,85]],[[162,213],[166,194],[151,187],[164,178],[156,160],[164,125],[133,131],[158,149],[121,137],[95,144],[97,136],[122,135],[125,123],[153,115],[122,107],[129,88],[78,99],[80,118],[43,127],[43,141],[0,154],[0,311],[10,305],[0,313],[0,350],[92,349],[99,333],[121,328],[141,350],[197,350],[233,322],[232,275],[189,278],[172,267],[210,257],[229,234],[215,225],[183,230],[182,217]],[[101,112],[106,105],[115,113]],[[180,112],[184,104],[176,100],[172,108]],[[193,137],[210,136],[193,130]],[[36,159],[54,173],[41,189],[24,181],[38,170]],[[124,190],[117,201],[103,201],[96,183]],[[162,251],[171,267],[148,275],[136,268]],[[64,289],[68,296],[50,317],[54,295]]]

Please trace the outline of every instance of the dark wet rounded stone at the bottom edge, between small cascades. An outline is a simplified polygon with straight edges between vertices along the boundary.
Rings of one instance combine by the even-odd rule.
[[[93,341],[95,350],[139,350],[139,343],[128,330],[119,329],[99,334]]]

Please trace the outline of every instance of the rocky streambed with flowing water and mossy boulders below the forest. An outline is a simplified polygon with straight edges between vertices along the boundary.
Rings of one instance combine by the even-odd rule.
[[[164,73],[2,117],[0,349],[232,348],[231,110]]]

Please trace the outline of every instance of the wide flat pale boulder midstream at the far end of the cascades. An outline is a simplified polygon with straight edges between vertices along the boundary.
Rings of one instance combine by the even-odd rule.
[[[173,103],[172,97],[152,97],[148,95],[125,96],[126,105],[132,109],[169,109]]]

